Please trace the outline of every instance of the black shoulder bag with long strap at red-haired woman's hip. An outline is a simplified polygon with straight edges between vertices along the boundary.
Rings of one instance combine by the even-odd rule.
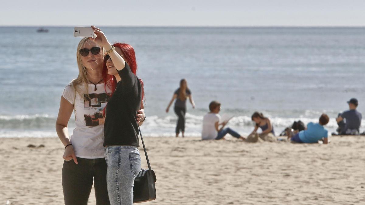
[[[138,127],[138,129],[139,135],[141,135],[143,150],[145,150],[148,169],[141,169],[134,179],[133,203],[152,201],[156,199],[156,175],[151,169],[150,160],[148,160],[145,142],[143,142],[141,134],[141,128]]]

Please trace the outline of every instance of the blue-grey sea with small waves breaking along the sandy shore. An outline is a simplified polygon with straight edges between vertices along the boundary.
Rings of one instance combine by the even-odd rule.
[[[79,25],[75,25],[79,26]],[[185,78],[186,136],[200,136],[212,100],[242,135],[254,129],[253,112],[269,117],[276,132],[293,121],[337,128],[335,117],[356,97],[365,113],[364,27],[100,27],[111,43],[135,49],[145,84],[145,136],[174,136],[177,116],[165,109]],[[61,93],[78,75],[81,38],[73,27],[0,27],[0,138],[57,137]],[[74,116],[69,132],[74,128]],[[364,131],[362,120],[360,131]]]

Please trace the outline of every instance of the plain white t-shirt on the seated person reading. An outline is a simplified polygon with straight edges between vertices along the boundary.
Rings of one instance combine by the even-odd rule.
[[[203,117],[203,130],[201,131],[201,139],[215,139],[218,135],[214,124],[220,121],[220,116],[216,113],[208,113]]]

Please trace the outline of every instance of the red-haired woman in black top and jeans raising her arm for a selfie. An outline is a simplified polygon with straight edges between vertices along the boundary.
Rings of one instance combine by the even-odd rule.
[[[115,88],[105,109],[104,123],[109,200],[112,205],[132,205],[134,179],[141,169],[135,115],[143,104],[143,82],[136,76],[133,47],[125,43],[111,45],[99,28],[94,31],[101,36],[100,44],[107,50],[104,62],[112,76],[108,84]]]

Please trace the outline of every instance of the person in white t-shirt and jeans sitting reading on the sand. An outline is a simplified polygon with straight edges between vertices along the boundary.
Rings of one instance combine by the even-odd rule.
[[[217,101],[212,101],[209,104],[210,112],[204,115],[203,118],[203,131],[201,131],[201,139],[209,140],[209,139],[224,139],[224,136],[229,133],[230,135],[234,136],[235,138],[245,140],[241,135],[237,132],[232,130],[231,128],[227,127],[225,129],[224,126],[228,123],[228,121],[220,121],[220,115],[218,114],[219,111],[222,109],[220,107],[220,103]],[[222,125],[219,128],[219,125]]]

